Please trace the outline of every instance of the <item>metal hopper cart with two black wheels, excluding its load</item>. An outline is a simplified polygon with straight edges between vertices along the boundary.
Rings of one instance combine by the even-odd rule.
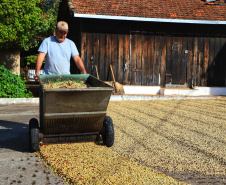
[[[40,75],[38,119],[29,121],[31,151],[43,144],[103,141],[107,147],[114,143],[112,119],[106,116],[113,87],[92,75]],[[88,88],[45,89],[45,83],[83,81]]]

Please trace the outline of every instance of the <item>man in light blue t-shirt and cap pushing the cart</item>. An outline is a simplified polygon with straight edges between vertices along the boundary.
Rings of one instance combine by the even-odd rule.
[[[79,52],[75,43],[67,39],[68,24],[64,21],[57,23],[55,35],[44,39],[38,51],[34,78],[37,81],[37,75],[41,69],[44,58],[45,66],[43,74],[70,74],[70,58],[82,74],[86,74],[84,64],[79,57]]]

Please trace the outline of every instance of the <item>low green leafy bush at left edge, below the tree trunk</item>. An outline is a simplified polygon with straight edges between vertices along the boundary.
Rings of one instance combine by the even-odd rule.
[[[32,93],[28,92],[26,80],[12,73],[4,65],[0,66],[0,98],[29,98]]]

